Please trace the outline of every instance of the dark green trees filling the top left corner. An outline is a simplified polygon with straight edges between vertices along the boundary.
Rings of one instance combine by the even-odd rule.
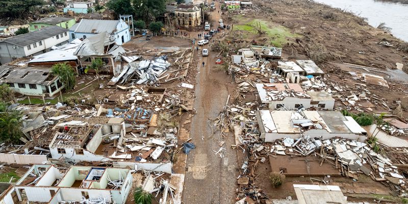
[[[41,6],[43,3],[43,0],[2,0],[0,17],[22,18],[27,16],[32,7]]]

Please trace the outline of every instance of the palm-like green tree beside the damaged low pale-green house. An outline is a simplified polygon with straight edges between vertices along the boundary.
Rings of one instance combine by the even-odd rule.
[[[55,64],[51,69],[53,75],[59,75],[60,81],[65,85],[65,90],[69,91],[75,87],[77,80],[77,73],[73,70],[71,65],[67,63]]]

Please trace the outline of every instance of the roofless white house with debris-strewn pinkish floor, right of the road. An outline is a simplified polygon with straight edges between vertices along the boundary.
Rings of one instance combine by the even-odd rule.
[[[270,110],[309,109],[333,110],[335,99],[327,92],[304,92],[299,84],[256,84],[262,103]]]

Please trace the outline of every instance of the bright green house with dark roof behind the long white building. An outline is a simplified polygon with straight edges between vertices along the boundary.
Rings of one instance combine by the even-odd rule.
[[[30,31],[38,31],[50,25],[57,25],[59,27],[69,29],[75,24],[75,19],[66,17],[49,17],[29,23]]]

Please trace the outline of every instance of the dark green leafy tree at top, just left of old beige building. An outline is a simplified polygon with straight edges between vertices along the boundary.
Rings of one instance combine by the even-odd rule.
[[[132,0],[136,18],[150,21],[166,12],[166,0]]]

